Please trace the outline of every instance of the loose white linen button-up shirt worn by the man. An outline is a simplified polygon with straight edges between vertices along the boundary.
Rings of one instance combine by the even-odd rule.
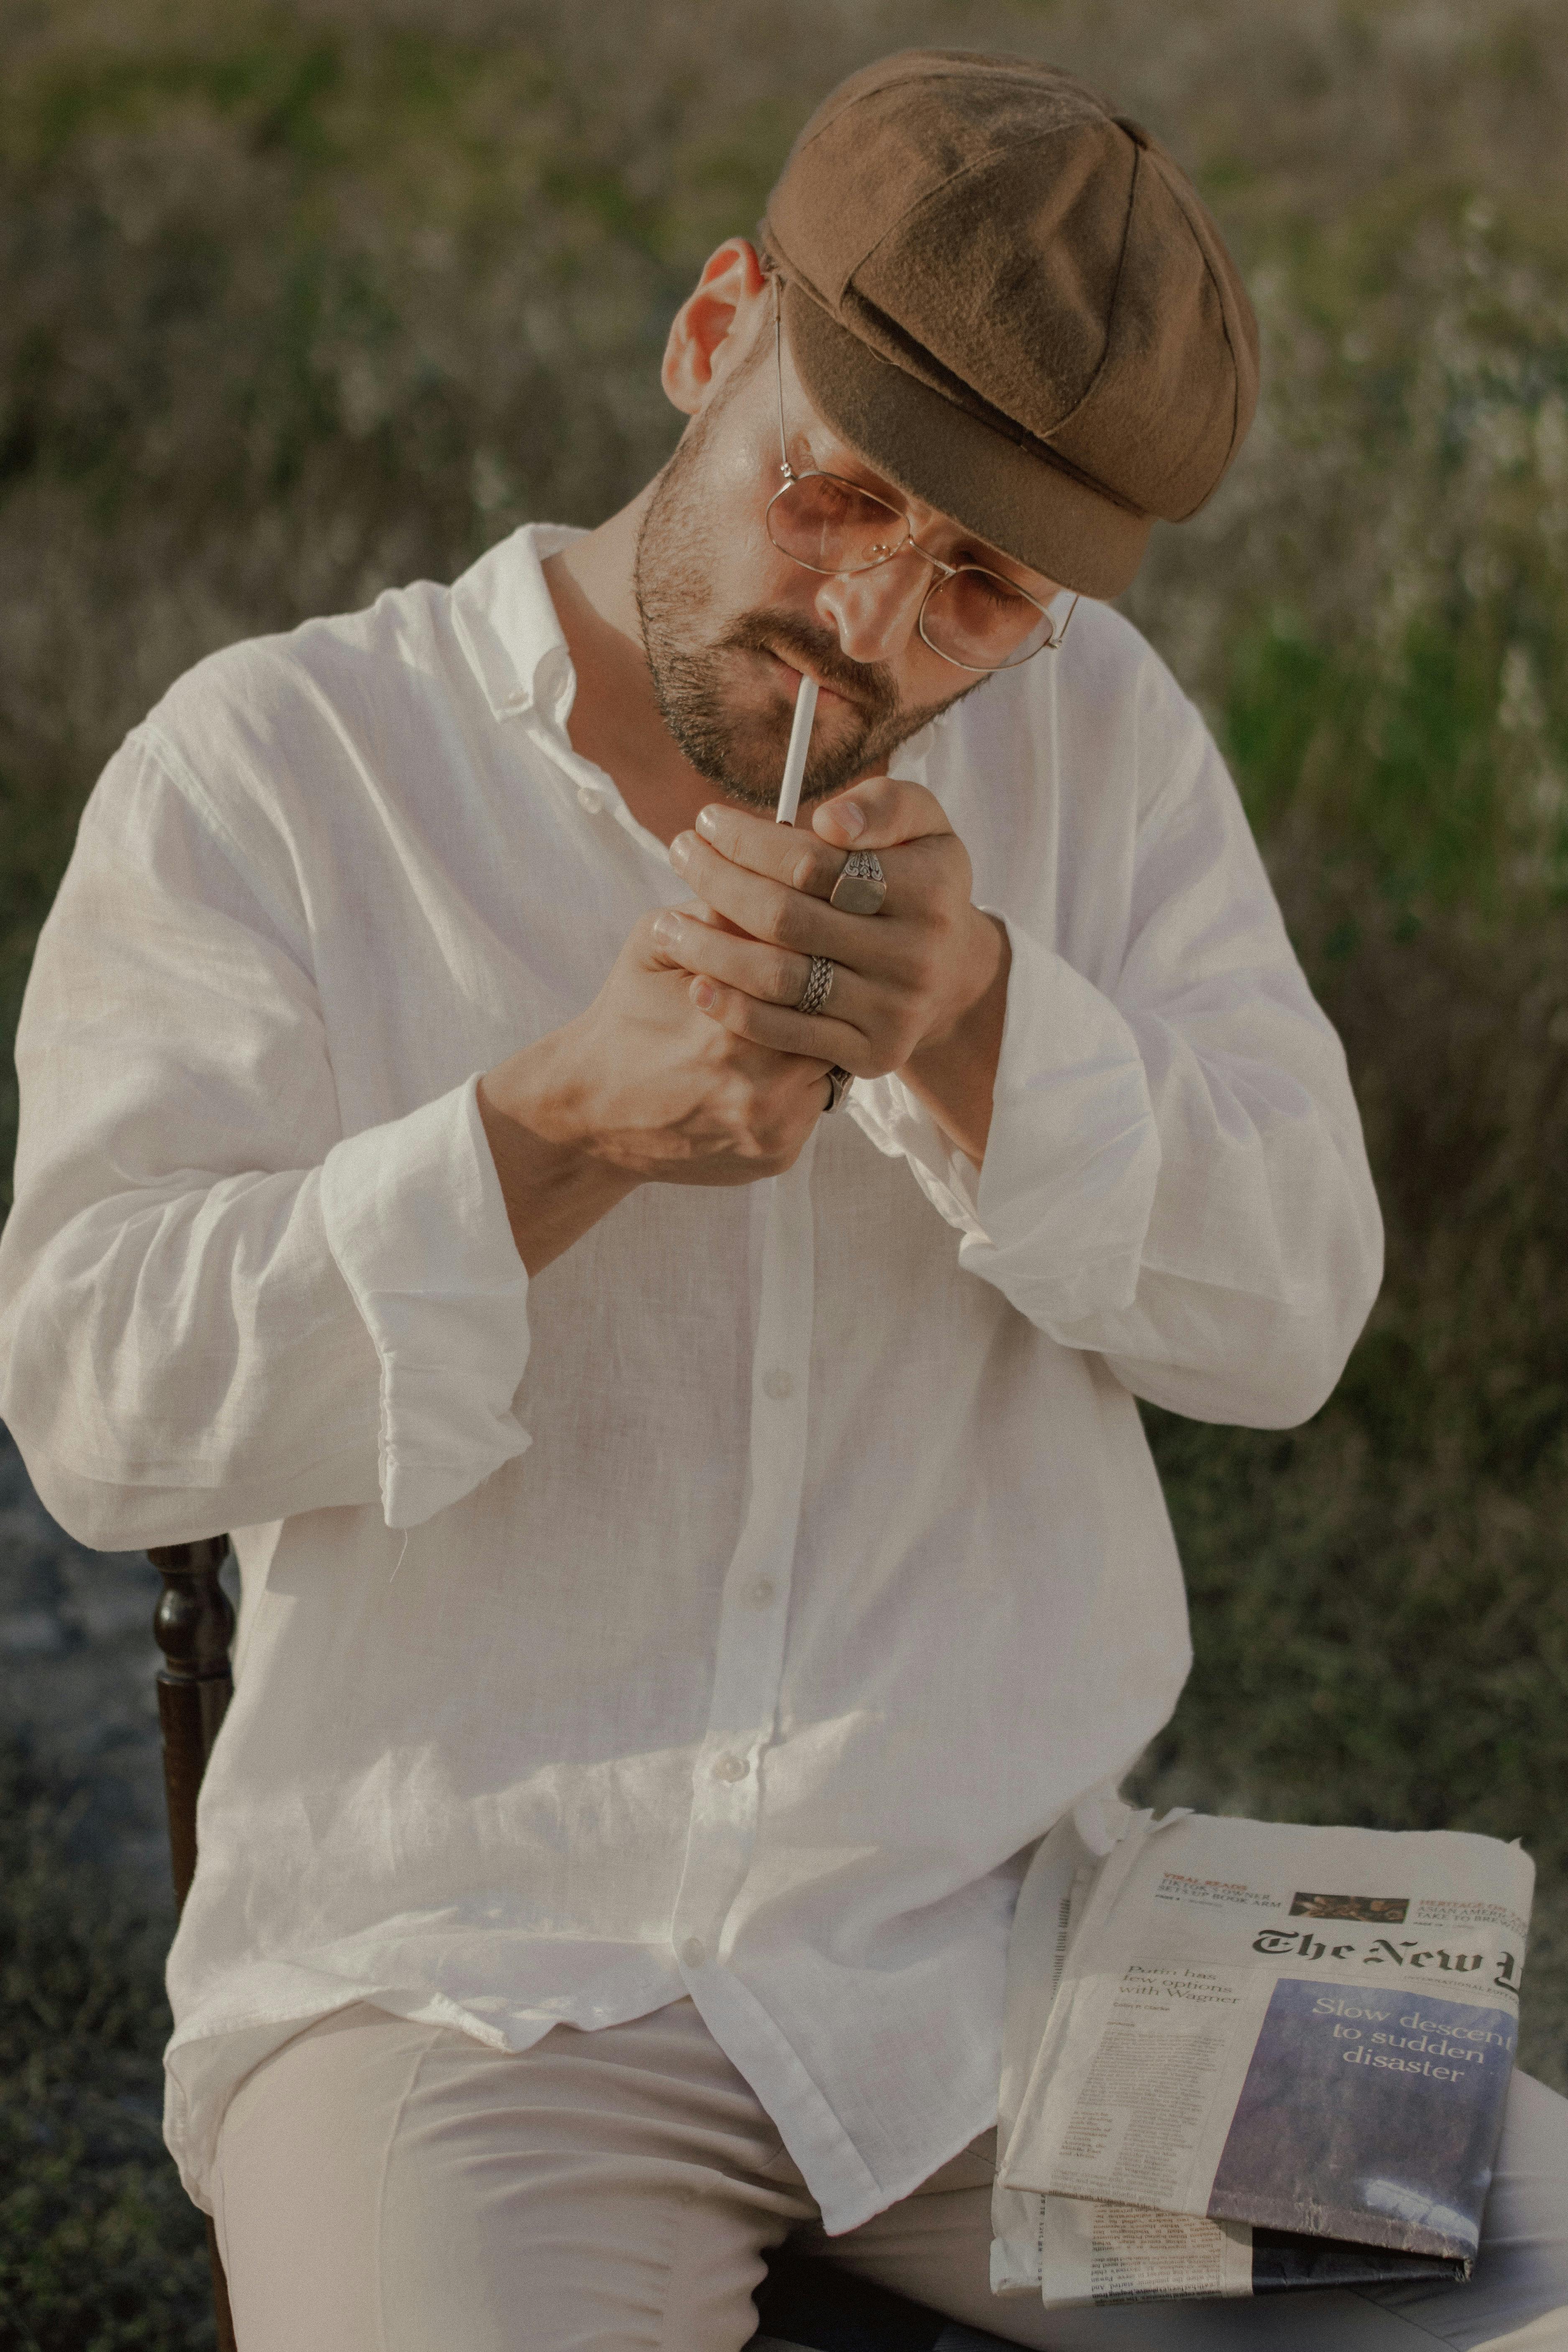
[[[367,1999],[527,2049],[691,1994],[844,2232],[994,2122],[1034,1842],[1187,1672],[1133,1392],[1284,1425],[1380,1277],[1340,1044],[1138,633],[905,746],[1011,936],[985,1164],[898,1080],[534,1282],[475,1080],[668,854],[567,736],[524,529],[237,644],[38,943],[0,1409],[122,1550],[233,1531],[167,2136]]]

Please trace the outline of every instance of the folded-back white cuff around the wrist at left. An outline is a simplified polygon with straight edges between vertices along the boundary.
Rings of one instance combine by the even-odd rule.
[[[529,1272],[477,1073],[334,1143],[322,1214],[381,1359],[381,1510],[388,1526],[421,1526],[531,1444],[512,1414],[529,1362]]]

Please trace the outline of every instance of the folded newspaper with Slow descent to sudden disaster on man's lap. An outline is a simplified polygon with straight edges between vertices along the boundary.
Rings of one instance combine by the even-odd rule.
[[[1495,1837],[1086,1799],[1009,1943],[994,2293],[1469,2277],[1533,1882]]]

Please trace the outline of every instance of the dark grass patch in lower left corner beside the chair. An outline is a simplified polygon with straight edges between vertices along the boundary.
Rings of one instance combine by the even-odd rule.
[[[0,2343],[200,2352],[207,2239],[162,2150],[162,1922],[71,1856],[68,1788],[0,1750]]]

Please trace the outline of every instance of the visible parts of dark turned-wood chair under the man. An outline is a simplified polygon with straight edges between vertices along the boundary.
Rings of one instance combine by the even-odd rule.
[[[219,1583],[228,1559],[228,1536],[202,1543],[167,1543],[148,1552],[162,1576],[153,1632],[162,1651],[158,1670],[158,1722],[162,1726],[162,1780],[169,1804],[169,1860],[174,1900],[183,1910],[195,1877],[195,1799],[212,1743],[233,1696],[228,1646],[235,1613]],[[228,2279],[219,2232],[207,2216],[212,2258],[212,2307],[219,2352],[237,2352],[228,2310]],[[999,2336],[954,2328],[938,2312],[858,2279],[832,2279],[820,2263],[785,2253],[769,2258],[769,2277],[757,2291],[759,2331],[748,2352],[1009,2352]]]

